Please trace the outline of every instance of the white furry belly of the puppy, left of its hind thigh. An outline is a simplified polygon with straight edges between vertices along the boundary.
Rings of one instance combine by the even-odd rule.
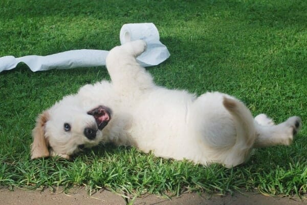
[[[188,123],[194,99],[194,95],[185,91],[165,89],[142,97],[131,112],[131,137],[135,146],[143,152],[153,151],[156,156],[167,158],[182,160],[197,155],[198,142]]]

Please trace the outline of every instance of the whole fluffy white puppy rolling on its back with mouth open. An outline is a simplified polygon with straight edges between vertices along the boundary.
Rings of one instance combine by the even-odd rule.
[[[85,85],[44,111],[33,129],[32,159],[70,155],[99,142],[135,146],[156,156],[233,167],[253,148],[290,145],[301,127],[299,117],[279,125],[266,115],[252,117],[227,94],[199,97],[153,83],[136,60],[143,40],[112,49],[106,67],[112,82]]]

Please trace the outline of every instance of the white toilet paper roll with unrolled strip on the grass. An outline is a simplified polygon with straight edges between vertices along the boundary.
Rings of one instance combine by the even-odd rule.
[[[120,30],[120,42],[143,39],[147,42],[147,50],[137,59],[142,66],[156,66],[169,57],[169,52],[161,42],[158,29],[152,23],[125,24]],[[108,51],[104,50],[71,50],[47,56],[27,55],[0,57],[0,72],[11,70],[20,62],[33,71],[50,69],[71,69],[77,67],[104,66]]]

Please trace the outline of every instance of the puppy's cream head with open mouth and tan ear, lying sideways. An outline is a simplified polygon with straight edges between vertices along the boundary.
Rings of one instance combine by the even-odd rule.
[[[88,107],[78,103],[76,96],[64,97],[40,114],[32,131],[31,159],[71,155],[103,140],[103,128],[111,119],[111,109]]]

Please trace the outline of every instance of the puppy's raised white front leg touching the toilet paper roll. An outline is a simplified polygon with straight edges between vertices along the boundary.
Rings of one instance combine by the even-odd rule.
[[[116,90],[130,93],[153,86],[152,77],[136,60],[146,47],[144,40],[136,40],[117,46],[109,52],[106,68]]]

